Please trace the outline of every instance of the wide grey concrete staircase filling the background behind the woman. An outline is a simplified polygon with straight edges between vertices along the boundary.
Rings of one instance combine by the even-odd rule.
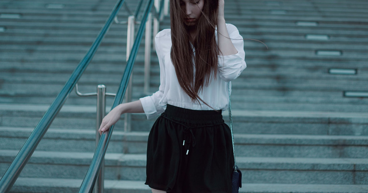
[[[136,1],[127,0],[131,10]],[[2,176],[103,26],[113,0],[0,2],[0,175]],[[51,7],[47,8],[47,7]],[[247,193],[367,193],[368,3],[226,0],[226,21],[245,40],[247,68],[233,81],[238,166]],[[124,8],[119,20],[127,18]],[[166,18],[161,29],[169,28]],[[113,24],[79,81],[116,92],[125,67],[126,26]],[[143,42],[143,41],[142,41]],[[143,92],[143,46],[133,98]],[[329,74],[330,69],[356,74]],[[159,86],[152,52],[151,92]],[[112,104],[107,98],[107,105]],[[15,182],[13,193],[77,192],[95,150],[94,97],[70,95]],[[227,119],[227,112],[224,112]],[[123,119],[123,118],[122,118]],[[132,115],[114,129],[105,192],[149,193],[146,140],[154,120]]]

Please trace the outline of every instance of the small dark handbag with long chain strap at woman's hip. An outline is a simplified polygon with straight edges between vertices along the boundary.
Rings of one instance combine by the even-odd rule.
[[[233,118],[231,117],[231,103],[230,103],[230,84],[227,82],[227,89],[229,92],[229,125],[231,131],[231,140],[233,142],[233,154],[234,154],[234,167],[233,167],[233,175],[231,175],[231,184],[233,186],[232,193],[239,193],[239,189],[241,188],[241,171],[236,165],[235,161],[235,146],[234,146],[234,134],[233,134]]]

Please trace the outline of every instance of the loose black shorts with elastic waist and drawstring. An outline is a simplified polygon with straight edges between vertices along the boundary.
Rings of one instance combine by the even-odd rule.
[[[234,166],[221,110],[167,105],[148,136],[146,185],[168,193],[231,193]]]

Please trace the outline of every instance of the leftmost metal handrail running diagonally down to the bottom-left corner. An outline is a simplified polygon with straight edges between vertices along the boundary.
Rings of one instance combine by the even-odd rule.
[[[28,140],[25,142],[24,146],[19,151],[14,161],[11,163],[10,167],[7,169],[4,176],[1,178],[0,181],[1,193],[9,192],[14,182],[17,180],[18,176],[20,175],[20,172],[28,162],[29,158],[32,156],[38,143],[45,135],[47,129],[52,124],[54,118],[59,113],[61,107],[63,107],[65,101],[68,99],[68,96],[72,92],[75,84],[82,76],[82,73],[87,68],[89,62],[91,62],[93,56],[95,55],[98,47],[102,42],[103,37],[110,28],[114,18],[118,14],[124,1],[125,0],[119,0],[117,2],[109,18],[106,20],[105,25],[103,26],[98,36],[96,37],[95,41],[93,42],[91,48],[85,54],[84,58],[82,58],[82,60],[79,62],[77,68],[75,68],[74,72],[71,74],[70,78],[65,83],[63,89],[61,89],[60,93],[57,95],[53,103],[47,109],[42,119],[39,121],[36,128],[31,133],[31,136],[29,136]]]

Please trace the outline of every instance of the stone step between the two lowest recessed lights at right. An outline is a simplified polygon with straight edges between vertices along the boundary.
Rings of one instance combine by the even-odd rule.
[[[95,67],[97,68],[97,67]],[[157,65],[152,65],[150,75],[150,82],[152,85],[159,85],[159,72]],[[120,85],[121,77],[124,73],[124,67],[110,68],[110,70],[115,69],[115,73],[111,72],[89,72],[83,74],[79,79],[79,83],[84,84],[98,84],[100,82],[106,82],[109,85]],[[244,82],[252,83],[254,89],[259,87],[265,87],[266,84],[272,87],[284,86],[290,88],[296,88],[296,86],[308,88],[321,88],[326,87],[330,90],[347,90],[347,89],[367,89],[368,86],[365,81],[368,80],[368,71],[359,71],[358,75],[332,75],[326,72],[324,73],[308,73],[308,72],[297,72],[296,70],[289,71],[287,73],[277,73],[272,74],[272,72],[258,72],[253,74],[253,71],[246,69],[236,80],[232,81],[232,86],[235,88],[243,87]],[[86,70],[86,72],[88,72]],[[55,84],[64,85],[67,79],[70,77],[71,73],[43,73],[43,72],[0,72],[1,83],[5,84]],[[134,83],[141,85],[144,81],[144,67],[136,65],[133,70]],[[309,76],[308,76],[309,75]],[[351,87],[354,85],[354,87]],[[14,89],[15,90],[15,89]]]

